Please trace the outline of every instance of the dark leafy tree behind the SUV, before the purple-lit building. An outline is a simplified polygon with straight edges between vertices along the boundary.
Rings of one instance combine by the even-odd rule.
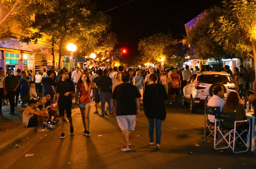
[[[224,11],[216,6],[205,10],[200,20],[187,34],[187,41],[196,48],[198,57],[202,59],[214,58],[216,62],[219,61],[219,64],[221,64],[221,59],[226,55],[226,52],[223,50],[223,46],[211,36],[209,30],[210,24],[216,22],[223,13]]]

